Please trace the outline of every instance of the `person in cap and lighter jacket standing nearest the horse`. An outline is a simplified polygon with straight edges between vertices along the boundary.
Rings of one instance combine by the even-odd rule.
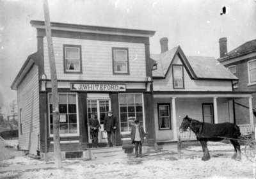
[[[143,127],[140,126],[140,121],[135,119],[134,120],[134,126],[132,127],[131,131],[131,140],[132,143],[134,144],[135,148],[135,157],[142,157],[141,155],[141,146],[143,143],[143,138],[144,138],[144,130]],[[138,152],[139,149],[139,152]]]

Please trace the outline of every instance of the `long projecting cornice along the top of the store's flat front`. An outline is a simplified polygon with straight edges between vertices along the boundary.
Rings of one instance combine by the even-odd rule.
[[[45,29],[44,21],[31,20],[30,24],[37,29]],[[125,35],[125,36],[153,36],[156,31],[148,31],[141,29],[124,29],[116,27],[102,27],[102,26],[88,26],[81,24],[67,24],[60,22],[51,22],[52,30],[60,31],[76,31],[82,33],[97,33],[97,34],[113,34],[113,35]]]

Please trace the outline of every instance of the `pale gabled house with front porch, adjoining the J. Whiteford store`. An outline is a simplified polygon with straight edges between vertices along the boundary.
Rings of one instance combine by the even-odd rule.
[[[168,50],[168,38],[161,38],[161,54],[151,54],[157,61],[153,71],[154,119],[156,143],[195,139],[189,132],[179,133],[179,125],[188,114],[210,123],[234,122],[234,100],[250,103],[249,129],[252,132],[252,92],[233,91],[237,77],[212,57],[186,56],[181,47]],[[252,128],[250,128],[250,126]]]

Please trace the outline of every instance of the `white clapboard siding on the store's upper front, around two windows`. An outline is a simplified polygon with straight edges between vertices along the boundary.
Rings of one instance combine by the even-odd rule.
[[[109,80],[144,81],[146,77],[145,45],[143,43],[105,42],[53,37],[54,54],[58,79],[65,80]],[[63,67],[63,45],[81,45],[83,74],[65,74]],[[129,49],[129,75],[113,75],[112,47]],[[48,49],[44,38],[44,69],[51,77]]]

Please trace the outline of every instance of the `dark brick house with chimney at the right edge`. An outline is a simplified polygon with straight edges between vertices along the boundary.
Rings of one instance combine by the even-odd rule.
[[[218,61],[226,66],[232,74],[236,75],[239,81],[233,82],[234,91],[253,91],[252,105],[255,123],[256,114],[256,40],[243,43],[236,49],[227,51],[227,38],[220,38],[220,58]],[[250,118],[250,102],[244,98],[234,100],[235,118],[239,125],[252,123]]]

